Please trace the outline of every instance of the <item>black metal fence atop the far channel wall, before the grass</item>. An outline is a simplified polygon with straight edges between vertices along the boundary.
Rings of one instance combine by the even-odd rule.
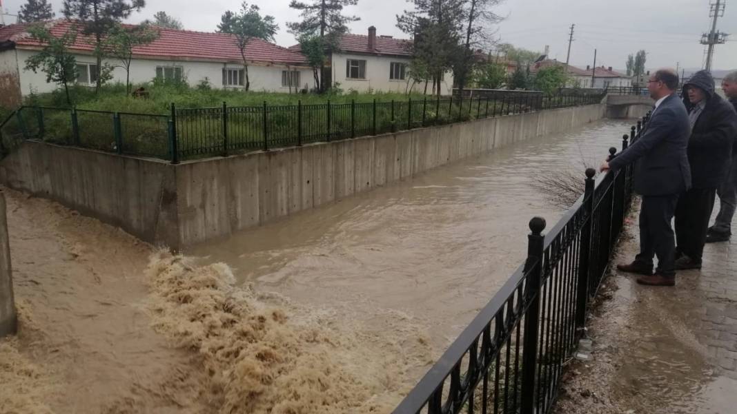
[[[510,91],[507,91],[510,92]],[[514,91],[511,91],[514,92]],[[38,139],[171,160],[301,146],[471,119],[601,102],[603,95],[499,93],[469,99],[177,109],[169,115],[20,107],[4,141]],[[13,145],[12,142],[7,143]],[[7,146],[6,146],[7,148]]]

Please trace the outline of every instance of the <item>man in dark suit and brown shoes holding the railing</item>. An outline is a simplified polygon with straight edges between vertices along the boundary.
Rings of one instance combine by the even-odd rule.
[[[638,283],[652,286],[676,284],[675,239],[671,220],[678,195],[691,187],[691,168],[686,148],[691,129],[688,113],[675,93],[678,75],[660,69],[650,76],[648,90],[655,109],[640,138],[609,162],[601,171],[635,164],[635,191],[642,196],[640,209],[640,254],[635,261],[617,265],[621,271],[641,274]],[[652,273],[653,257],[657,269]]]

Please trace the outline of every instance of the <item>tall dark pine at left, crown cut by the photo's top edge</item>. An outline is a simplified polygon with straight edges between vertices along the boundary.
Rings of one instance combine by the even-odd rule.
[[[140,11],[145,0],[64,0],[64,17],[75,19],[82,25],[84,35],[91,35],[94,54],[97,57],[97,82],[95,92],[111,76],[111,68],[102,65],[105,51],[102,40],[116,24],[128,18],[133,11]]]

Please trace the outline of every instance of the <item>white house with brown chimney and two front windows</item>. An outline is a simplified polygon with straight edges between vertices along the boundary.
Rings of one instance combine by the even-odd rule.
[[[299,50],[299,46],[290,49]],[[329,56],[332,84],[343,90],[401,92],[425,91],[425,82],[413,82],[409,72],[412,60],[412,40],[377,36],[376,28],[368,28],[368,35],[345,34],[338,40],[338,50]],[[433,85],[427,86],[432,93]],[[443,75],[441,94],[453,91],[453,74]]]

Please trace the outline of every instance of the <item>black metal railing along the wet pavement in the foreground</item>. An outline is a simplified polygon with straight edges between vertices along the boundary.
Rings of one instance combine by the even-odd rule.
[[[551,412],[632,198],[632,167],[585,175],[584,194],[547,234],[544,219],[530,221],[526,262],[394,414]]]

